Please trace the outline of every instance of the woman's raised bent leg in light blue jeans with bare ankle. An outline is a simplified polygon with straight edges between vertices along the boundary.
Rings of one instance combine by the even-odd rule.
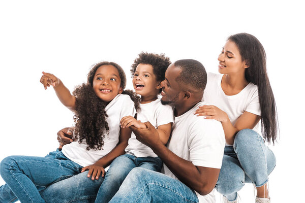
[[[243,171],[257,187],[257,196],[268,197],[265,185],[276,166],[276,157],[262,137],[251,129],[240,130],[234,140],[234,151]]]

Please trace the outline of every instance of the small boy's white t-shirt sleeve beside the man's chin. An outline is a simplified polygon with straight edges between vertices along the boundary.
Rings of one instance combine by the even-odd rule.
[[[159,107],[156,109],[157,126],[165,125],[174,122],[173,108],[169,105],[162,105],[161,102]]]

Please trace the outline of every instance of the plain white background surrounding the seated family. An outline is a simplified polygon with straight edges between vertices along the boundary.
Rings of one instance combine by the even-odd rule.
[[[278,107],[281,137],[271,146],[277,166],[269,176],[272,202],[303,198],[304,20],[301,1],[1,1],[0,160],[44,156],[58,146],[56,132],[73,114],[41,72],[72,91],[101,60],[124,67],[141,51],[171,61],[193,58],[217,73],[217,57],[229,35],[248,32],[263,44]],[[4,181],[0,178],[0,184]],[[253,186],[240,192],[254,202]],[[220,196],[217,195],[217,201]]]

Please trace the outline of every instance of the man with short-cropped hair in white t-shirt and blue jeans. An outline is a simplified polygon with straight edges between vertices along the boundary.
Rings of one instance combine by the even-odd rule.
[[[167,147],[149,122],[146,129],[130,128],[163,160],[164,174],[134,168],[110,202],[214,202],[209,193],[219,176],[225,137],[220,122],[193,114],[205,105],[205,69],[199,61],[178,60],[168,67],[161,85],[161,101],[172,105],[175,114]],[[41,195],[46,202],[92,202],[102,181],[91,181],[82,173],[52,184]]]

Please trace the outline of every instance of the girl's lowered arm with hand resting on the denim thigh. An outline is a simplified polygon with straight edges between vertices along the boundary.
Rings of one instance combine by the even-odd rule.
[[[92,165],[88,165],[82,168],[81,172],[87,171],[88,178],[92,176],[92,180],[98,180],[101,173],[102,177],[105,175],[104,168],[110,165],[110,163],[118,156],[125,154],[125,148],[128,145],[128,140],[131,136],[131,130],[129,128],[120,128],[119,141],[116,147],[114,147],[108,154],[98,160]]]

